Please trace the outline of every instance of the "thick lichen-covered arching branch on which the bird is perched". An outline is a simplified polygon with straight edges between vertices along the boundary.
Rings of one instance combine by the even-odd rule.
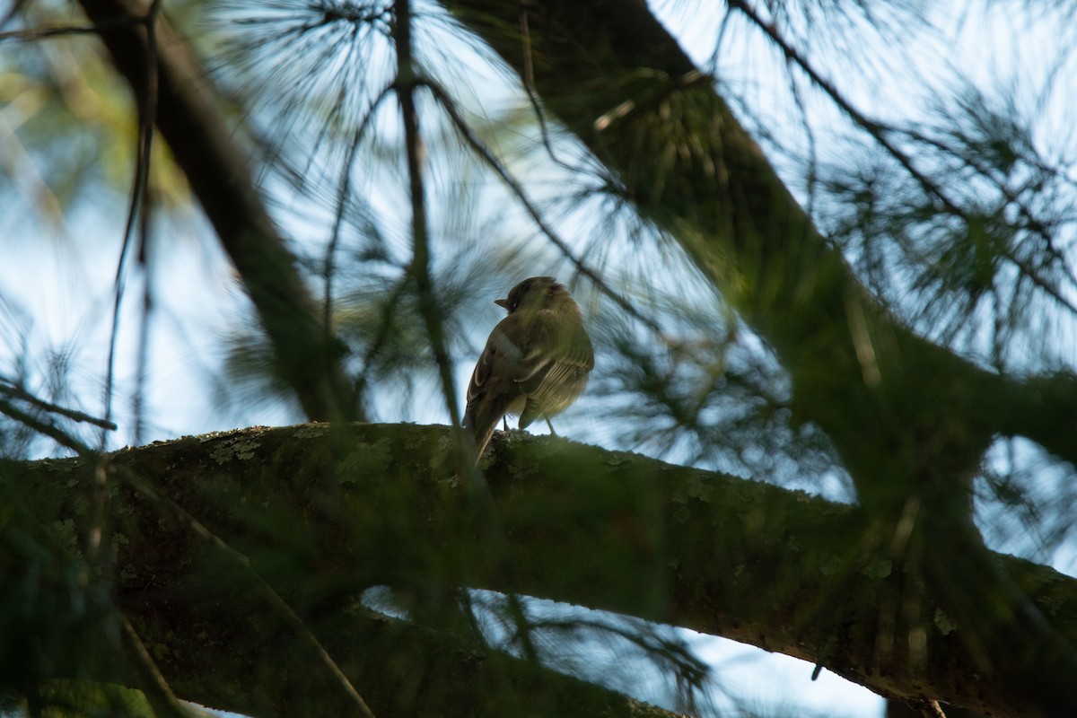
[[[149,481],[251,557],[376,715],[392,662],[369,653],[388,644],[347,611],[376,585],[458,583],[630,614],[821,663],[884,695],[992,715],[1063,715],[1060,706],[1077,704],[1067,675],[1048,677],[1050,693],[1030,695],[1012,677],[978,671],[963,639],[974,629],[910,580],[890,550],[875,548],[870,518],[853,507],[561,439],[512,435],[493,446],[489,494],[439,468],[453,465],[453,452],[438,427],[254,428],[113,454],[125,610],[151,652],[168,657],[162,670],[177,694],[216,707],[253,710],[244,702],[253,698],[234,699],[229,670],[261,672],[248,690],[271,687],[284,666],[267,645],[299,647],[282,628],[252,632],[284,623],[267,618],[272,611],[219,551],[134,490]],[[82,499],[70,487],[81,485],[72,480],[81,466],[20,469],[43,520],[78,516],[71,507]],[[1077,581],[992,560],[1052,631],[1077,639]],[[981,599],[984,615],[997,610]],[[1041,658],[1050,648],[1032,635],[1024,642],[1010,650]],[[240,665],[218,657],[207,672],[207,656],[221,646],[244,651]],[[361,660],[360,671],[352,663]],[[282,684],[284,695],[310,677]]]

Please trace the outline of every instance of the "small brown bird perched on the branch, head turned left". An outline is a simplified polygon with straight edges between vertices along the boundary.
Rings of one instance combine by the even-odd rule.
[[[568,409],[587,384],[595,350],[584,318],[569,292],[553,277],[526,279],[494,304],[501,320],[478,357],[467,386],[463,427],[475,440],[476,462],[506,414],[520,428]]]

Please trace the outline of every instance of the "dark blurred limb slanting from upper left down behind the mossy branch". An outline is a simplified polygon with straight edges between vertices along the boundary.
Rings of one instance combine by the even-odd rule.
[[[340,363],[345,346],[319,321],[295,257],[252,183],[250,167],[220,110],[222,102],[209,94],[205,70],[157,17],[157,96],[141,97],[146,68],[152,67],[143,25],[146,5],[138,0],[84,0],[81,5],[101,28],[101,41],[138,100],[156,102],[157,129],[242,278],[274,347],[277,368],[294,388],[304,412],[313,420],[361,418]]]

